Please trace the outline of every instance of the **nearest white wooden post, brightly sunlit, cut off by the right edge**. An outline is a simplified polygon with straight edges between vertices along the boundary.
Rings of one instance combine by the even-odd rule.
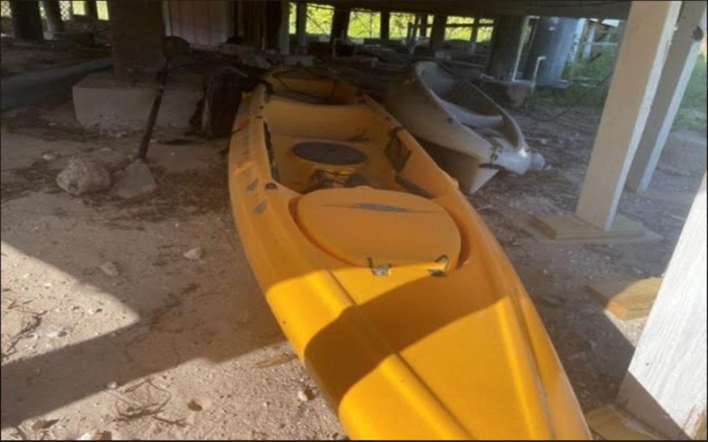
[[[617,403],[668,438],[706,438],[706,176]]]

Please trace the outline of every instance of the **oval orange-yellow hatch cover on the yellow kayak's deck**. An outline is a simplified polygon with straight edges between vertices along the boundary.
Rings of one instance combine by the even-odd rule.
[[[432,200],[367,186],[326,188],[302,196],[295,218],[320,249],[352,266],[413,266],[431,274],[454,268],[462,239]]]

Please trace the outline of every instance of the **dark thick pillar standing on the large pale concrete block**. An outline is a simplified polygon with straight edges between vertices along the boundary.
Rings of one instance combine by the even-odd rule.
[[[161,2],[109,1],[108,16],[115,76],[125,81],[154,79],[165,60]]]

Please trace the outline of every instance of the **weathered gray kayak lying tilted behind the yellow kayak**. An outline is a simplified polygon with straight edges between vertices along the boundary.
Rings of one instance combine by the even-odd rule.
[[[389,86],[384,101],[416,137],[472,157],[476,170],[466,190],[476,191],[500,169],[525,174],[543,167],[543,157],[530,152],[503,108],[436,62],[413,64],[404,79]]]

